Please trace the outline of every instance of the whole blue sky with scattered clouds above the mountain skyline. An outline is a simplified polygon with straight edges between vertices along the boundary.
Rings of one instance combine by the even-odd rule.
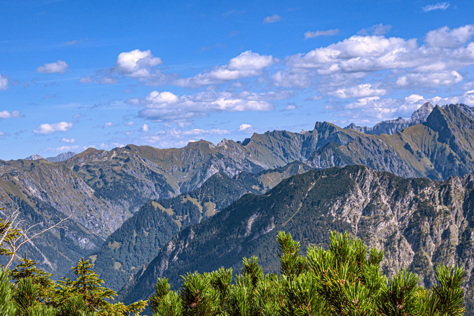
[[[474,105],[472,1],[0,1],[1,159]]]

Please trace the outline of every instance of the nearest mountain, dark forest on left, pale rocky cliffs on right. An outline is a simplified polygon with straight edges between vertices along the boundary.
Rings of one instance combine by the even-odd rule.
[[[410,267],[433,284],[432,264],[459,263],[473,295],[474,176],[446,181],[404,179],[365,166],[309,171],[283,180],[263,195],[246,194],[215,216],[183,229],[119,292],[124,302],[145,298],[158,277],[180,286],[187,271],[241,268],[257,255],[264,272],[277,272],[275,235],[291,232],[309,245],[327,246],[330,230],[348,231],[383,248],[392,275]],[[471,304],[471,303],[470,303]]]

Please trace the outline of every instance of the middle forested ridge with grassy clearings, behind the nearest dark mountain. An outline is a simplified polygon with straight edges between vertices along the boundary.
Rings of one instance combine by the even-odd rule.
[[[180,229],[199,223],[246,193],[262,194],[285,178],[310,168],[300,162],[259,173],[242,172],[230,178],[212,175],[201,187],[170,199],[149,200],[88,257],[105,285],[118,291],[149,263]]]

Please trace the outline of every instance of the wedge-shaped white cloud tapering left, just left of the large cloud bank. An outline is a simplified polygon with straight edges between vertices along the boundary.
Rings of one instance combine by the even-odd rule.
[[[271,66],[274,62],[272,55],[246,51],[229,60],[227,65],[216,66],[210,72],[199,73],[193,77],[177,79],[172,84],[180,87],[198,87],[255,77],[262,74],[264,68]]]

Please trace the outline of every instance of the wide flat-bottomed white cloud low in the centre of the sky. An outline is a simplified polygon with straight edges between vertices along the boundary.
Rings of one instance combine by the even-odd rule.
[[[194,95],[177,96],[169,91],[152,91],[144,99],[128,102],[143,105],[139,112],[155,122],[182,122],[192,118],[208,116],[210,112],[269,111],[273,103],[263,101],[262,95],[249,94],[239,98],[230,92],[206,91]]]

